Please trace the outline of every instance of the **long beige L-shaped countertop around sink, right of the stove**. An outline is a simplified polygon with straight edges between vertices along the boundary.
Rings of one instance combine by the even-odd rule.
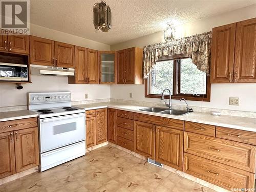
[[[228,115],[213,116],[209,113],[198,113],[198,112],[189,113],[183,116],[175,116],[175,115],[139,111],[139,109],[143,109],[145,108],[145,106],[137,106],[137,105],[131,105],[131,104],[115,103],[115,102],[90,103],[90,104],[80,104],[75,106],[79,108],[84,108],[85,110],[113,108],[118,110],[125,110],[125,111],[131,111],[136,113],[161,116],[161,117],[166,117],[171,119],[180,119],[184,121],[205,123],[210,125],[229,127],[232,129],[256,132],[255,118],[237,117],[237,116],[228,116]]]

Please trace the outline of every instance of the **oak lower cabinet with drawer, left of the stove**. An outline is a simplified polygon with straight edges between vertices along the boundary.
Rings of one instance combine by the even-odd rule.
[[[0,178],[39,165],[37,118],[0,122]],[[14,124],[15,123],[15,124]],[[9,132],[6,131],[9,127]]]

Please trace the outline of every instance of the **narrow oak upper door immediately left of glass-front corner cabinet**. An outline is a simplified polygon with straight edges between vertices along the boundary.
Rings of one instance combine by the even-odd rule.
[[[88,83],[99,83],[99,58],[98,51],[87,49],[87,77]]]

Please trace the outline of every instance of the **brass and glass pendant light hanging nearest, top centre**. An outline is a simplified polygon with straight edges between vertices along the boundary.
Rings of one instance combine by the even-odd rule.
[[[102,32],[108,32],[112,27],[111,9],[103,0],[93,6],[93,24],[96,30]]]

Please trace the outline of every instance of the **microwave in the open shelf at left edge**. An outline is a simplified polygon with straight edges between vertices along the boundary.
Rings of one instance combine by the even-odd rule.
[[[0,81],[28,81],[28,66],[0,62]]]

